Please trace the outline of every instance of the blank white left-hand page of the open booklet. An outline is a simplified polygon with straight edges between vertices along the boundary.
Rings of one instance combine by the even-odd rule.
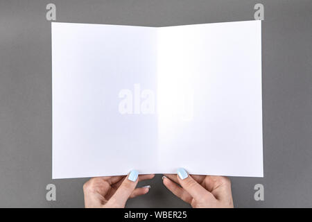
[[[156,115],[120,114],[119,92],[156,90],[156,37],[149,27],[52,23],[53,178],[155,170]]]

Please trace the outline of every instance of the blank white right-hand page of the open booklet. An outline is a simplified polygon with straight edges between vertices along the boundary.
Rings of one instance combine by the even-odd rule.
[[[158,30],[159,169],[263,176],[261,21]]]

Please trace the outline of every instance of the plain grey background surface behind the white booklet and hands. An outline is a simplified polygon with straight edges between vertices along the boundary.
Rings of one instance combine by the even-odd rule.
[[[263,3],[264,178],[231,178],[236,207],[312,207],[312,1],[0,1],[0,207],[83,207],[87,180],[51,180],[51,22],[173,26],[254,19]],[[46,185],[57,200],[46,200]],[[254,185],[264,185],[264,201]],[[162,185],[128,207],[189,207]],[[143,184],[142,184],[143,185]]]

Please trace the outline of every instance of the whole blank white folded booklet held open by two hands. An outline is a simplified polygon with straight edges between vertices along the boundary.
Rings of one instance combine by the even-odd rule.
[[[53,178],[263,176],[261,21],[51,33]]]

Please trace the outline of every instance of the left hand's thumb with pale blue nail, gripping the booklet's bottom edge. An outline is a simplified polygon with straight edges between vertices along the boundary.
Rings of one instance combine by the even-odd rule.
[[[139,176],[139,172],[132,170],[128,177],[123,180],[120,187],[116,190],[115,194],[110,198],[109,202],[114,203],[113,205],[117,205],[119,207],[124,207],[125,202],[128,200],[132,191],[135,190],[137,186],[137,178]]]

